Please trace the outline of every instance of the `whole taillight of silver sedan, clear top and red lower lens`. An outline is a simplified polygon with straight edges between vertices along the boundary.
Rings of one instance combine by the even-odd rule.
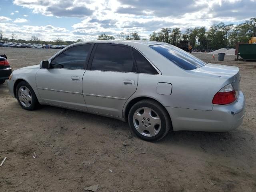
[[[234,102],[236,98],[237,96],[234,87],[232,84],[228,84],[214,95],[212,103],[217,105],[226,105]]]

